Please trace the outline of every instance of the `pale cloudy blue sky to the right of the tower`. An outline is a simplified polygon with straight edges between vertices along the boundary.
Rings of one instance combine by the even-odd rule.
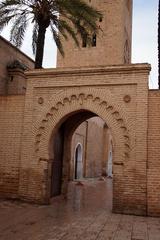
[[[152,65],[150,88],[157,88],[158,0],[133,0],[132,62]]]

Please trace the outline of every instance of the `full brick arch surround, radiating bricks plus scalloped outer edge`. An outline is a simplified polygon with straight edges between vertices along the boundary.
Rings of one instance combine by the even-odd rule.
[[[80,93],[65,97],[61,101],[58,100],[58,102],[53,103],[53,105],[51,104],[50,108],[45,113],[45,117],[41,119],[38,132],[35,137],[35,152],[39,155],[39,160],[46,159],[46,161],[49,161],[49,156],[46,158],[42,156],[44,155],[44,151],[41,153],[40,146],[47,146],[51,133],[54,128],[56,128],[56,125],[68,113],[76,112],[80,109],[92,111],[106,121],[108,126],[113,129],[114,139],[116,139],[117,133],[121,135],[118,140],[123,145],[122,149],[124,159],[128,159],[130,151],[130,136],[127,129],[126,119],[123,116],[123,111],[119,110],[117,106],[115,107],[114,104],[110,104],[108,101],[102,100],[102,98],[98,95],[93,96],[92,94]],[[114,134],[115,129],[117,133]],[[47,156],[47,153],[45,154]]]

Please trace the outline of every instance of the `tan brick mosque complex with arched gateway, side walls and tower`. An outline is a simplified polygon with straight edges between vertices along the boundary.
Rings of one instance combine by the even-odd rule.
[[[0,196],[48,204],[69,181],[109,177],[113,212],[160,216],[160,92],[149,64],[131,64],[132,0],[89,4],[99,34],[65,41],[56,69],[0,37]]]

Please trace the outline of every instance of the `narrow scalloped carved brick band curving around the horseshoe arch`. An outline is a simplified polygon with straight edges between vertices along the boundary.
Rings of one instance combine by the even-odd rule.
[[[47,124],[53,119],[56,113],[63,108],[66,107],[67,104],[74,104],[74,102],[78,102],[80,106],[83,105],[84,101],[92,101],[95,105],[95,108],[100,108],[101,111],[106,112],[108,115],[112,116],[115,120],[116,124],[121,129],[121,136],[123,137],[123,145],[124,145],[124,157],[129,158],[130,152],[130,136],[127,128],[126,120],[121,115],[120,111],[116,109],[116,107],[110,104],[108,101],[104,101],[100,99],[100,97],[95,97],[92,94],[72,94],[69,97],[64,97],[61,101],[57,101],[54,106],[51,106],[48,112],[45,114],[45,117],[41,120],[40,125],[38,127],[38,131],[35,137],[35,152],[38,153],[40,151],[40,143],[43,139],[43,135],[45,134],[45,129]],[[82,108],[83,109],[83,108]],[[89,110],[89,109],[88,109]],[[60,120],[60,119],[59,119]],[[39,158],[40,161],[49,161],[48,159]],[[115,163],[116,165],[116,163]],[[117,164],[120,165],[120,164]],[[123,165],[123,163],[121,164]]]

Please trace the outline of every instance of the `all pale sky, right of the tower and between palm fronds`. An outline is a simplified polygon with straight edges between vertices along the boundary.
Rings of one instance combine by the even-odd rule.
[[[147,62],[152,65],[150,88],[157,88],[157,10],[158,0],[133,0],[132,63]],[[3,36],[8,38],[7,28]],[[29,33],[26,39],[22,50],[32,57]],[[50,37],[46,39],[44,67],[53,67],[56,66],[56,47]]]

